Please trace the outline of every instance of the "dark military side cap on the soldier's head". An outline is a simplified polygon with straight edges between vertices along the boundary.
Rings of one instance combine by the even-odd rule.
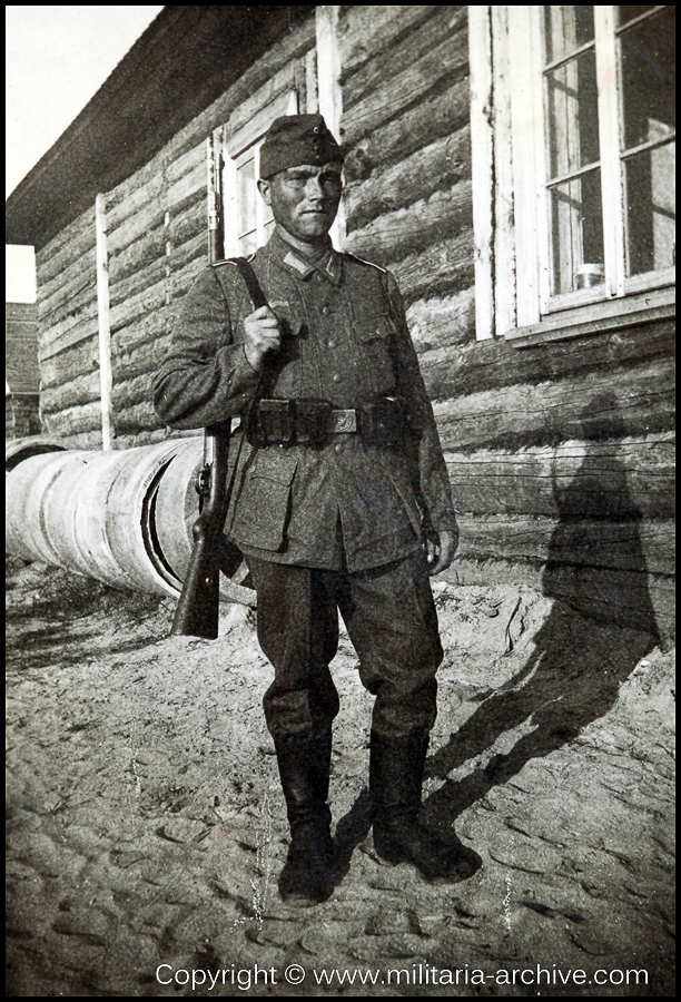
[[[343,163],[343,150],[320,115],[283,115],[275,118],[260,147],[260,177],[304,164]]]

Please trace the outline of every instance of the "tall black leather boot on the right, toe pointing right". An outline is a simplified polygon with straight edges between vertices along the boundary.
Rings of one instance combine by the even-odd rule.
[[[388,738],[372,731],[374,848],[387,863],[412,863],[427,881],[456,882],[477,868],[471,870],[470,852],[448,845],[418,823],[428,741],[423,733]]]

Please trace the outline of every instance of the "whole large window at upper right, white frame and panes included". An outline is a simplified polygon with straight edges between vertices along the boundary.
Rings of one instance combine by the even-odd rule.
[[[501,293],[503,315],[483,336],[612,317],[631,312],[636,294],[649,305],[671,302],[674,8],[482,10],[486,24],[472,13],[474,222],[493,312],[497,286],[515,274],[514,295]],[[487,216],[475,205],[485,198],[476,151],[478,166],[483,157],[491,165]],[[511,237],[500,244],[493,230],[503,227]]]

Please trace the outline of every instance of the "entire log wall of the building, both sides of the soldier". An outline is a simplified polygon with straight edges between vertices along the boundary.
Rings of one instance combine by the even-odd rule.
[[[667,635],[673,325],[476,341],[467,29],[465,7],[342,7],[337,24],[345,246],[389,267],[405,298],[461,511],[450,579],[536,587]],[[151,374],[207,259],[205,140],[302,69],[312,79],[314,46],[310,16],[105,196],[115,448],[169,433]],[[101,440],[93,218],[38,255],[46,430],[88,446]]]

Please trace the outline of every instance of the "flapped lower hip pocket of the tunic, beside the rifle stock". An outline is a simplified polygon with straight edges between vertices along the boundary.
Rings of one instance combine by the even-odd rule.
[[[278,446],[259,450],[246,474],[230,536],[237,542],[278,550],[289,514],[298,458]]]

